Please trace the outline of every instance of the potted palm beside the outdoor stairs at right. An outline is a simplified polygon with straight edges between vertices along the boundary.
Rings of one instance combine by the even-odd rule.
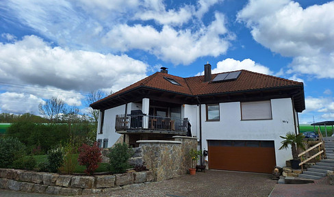
[[[291,167],[293,169],[299,168],[300,159],[298,158],[298,148],[305,149],[305,146],[303,144],[303,133],[299,133],[296,135],[295,133],[289,132],[285,136],[280,136],[284,140],[281,142],[282,146],[279,148],[279,150],[287,149],[289,145],[291,146],[292,151],[292,160],[290,160]]]

